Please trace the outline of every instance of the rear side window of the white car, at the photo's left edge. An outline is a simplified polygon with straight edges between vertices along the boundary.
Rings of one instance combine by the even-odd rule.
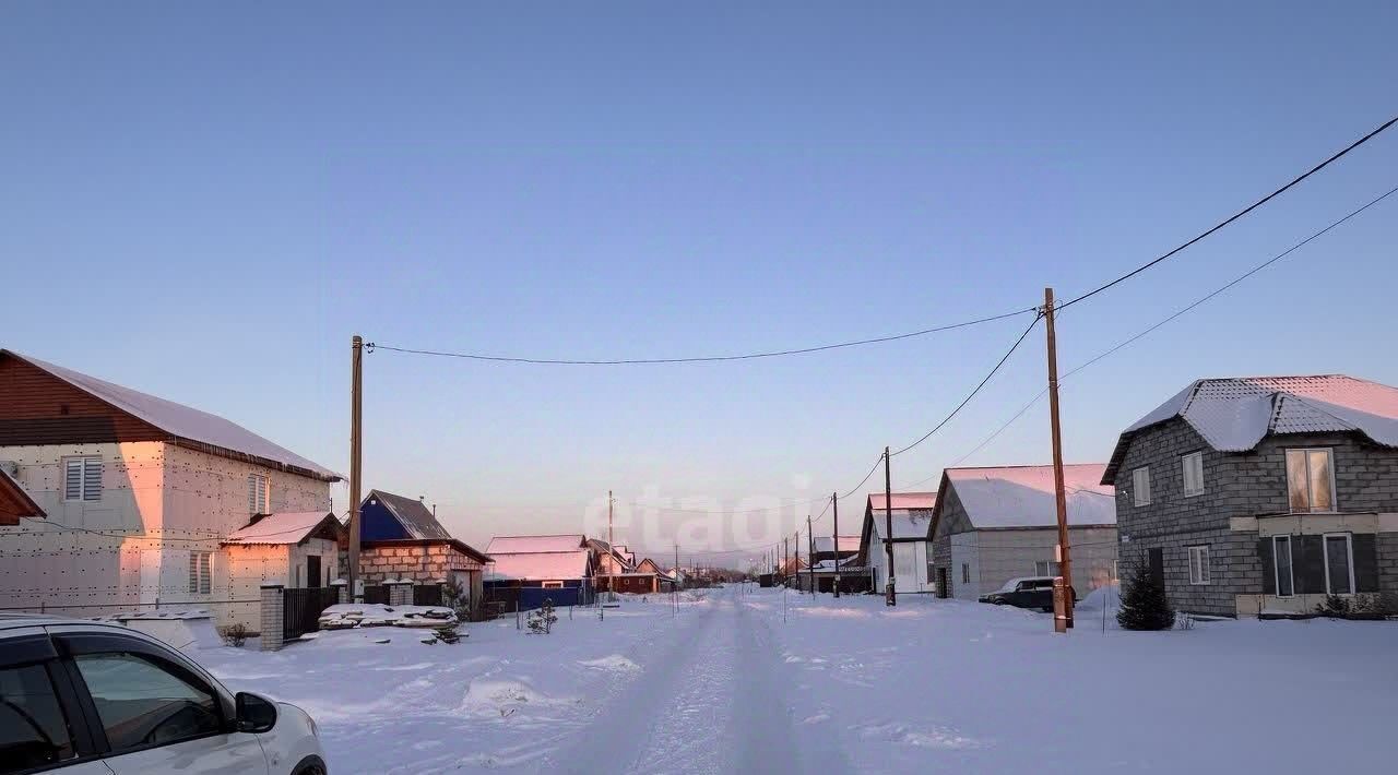
[[[73,739],[43,665],[0,669],[0,772],[73,758]]]

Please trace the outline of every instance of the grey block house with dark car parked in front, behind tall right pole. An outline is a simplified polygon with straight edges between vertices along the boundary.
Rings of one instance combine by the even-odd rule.
[[[1111,582],[1117,512],[1106,464],[1062,466],[1072,586]],[[932,510],[932,581],[941,598],[974,600],[1012,578],[1058,575],[1058,505],[1051,465],[948,468]]]

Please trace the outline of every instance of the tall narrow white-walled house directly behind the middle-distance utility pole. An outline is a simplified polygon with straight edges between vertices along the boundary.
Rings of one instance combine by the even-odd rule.
[[[860,532],[860,553],[856,564],[868,568],[870,589],[882,593],[888,584],[888,550],[884,533],[886,514],[884,493],[870,493],[864,504],[864,529]],[[937,493],[893,493],[893,584],[898,593],[931,592],[927,575],[931,552],[928,529]]]

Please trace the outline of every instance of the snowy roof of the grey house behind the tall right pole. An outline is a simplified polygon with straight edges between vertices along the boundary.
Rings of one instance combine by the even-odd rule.
[[[1117,524],[1116,490],[1102,485],[1106,468],[1100,462],[1062,466],[1069,525]],[[956,499],[977,529],[1058,524],[1051,465],[948,468],[944,480],[956,490]]]

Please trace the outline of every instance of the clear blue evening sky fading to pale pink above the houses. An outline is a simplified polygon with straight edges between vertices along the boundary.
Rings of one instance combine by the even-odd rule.
[[[0,346],[348,471],[354,334],[665,357],[1028,310],[1398,113],[1392,3],[974,6],[6,3]],[[1394,186],[1398,128],[1065,310],[1061,369]],[[1104,462],[1199,377],[1398,384],[1395,214],[1067,380],[1065,458]],[[756,550],[935,426],[1030,320],[681,366],[377,349],[365,485],[481,547],[596,531],[612,490],[619,543]],[[893,458],[893,487],[935,489],[1044,383],[1039,327]],[[1048,461],[1040,402],[963,465]],[[875,486],[842,501],[842,533]]]

